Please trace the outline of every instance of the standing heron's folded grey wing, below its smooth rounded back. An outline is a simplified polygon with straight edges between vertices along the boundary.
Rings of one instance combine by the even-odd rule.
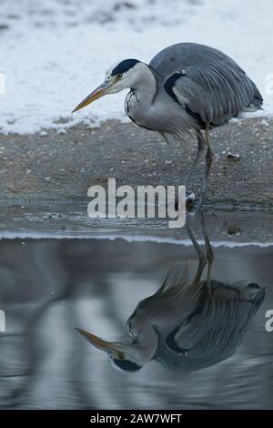
[[[164,86],[204,127],[221,125],[262,104],[258,88],[234,62],[214,59],[210,65],[187,66],[169,76]]]

